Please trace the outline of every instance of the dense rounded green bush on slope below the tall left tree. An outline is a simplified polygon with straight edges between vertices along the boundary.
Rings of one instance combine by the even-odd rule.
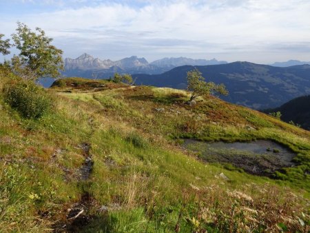
[[[52,100],[45,90],[31,81],[7,83],[4,99],[22,117],[39,119],[52,107]]]

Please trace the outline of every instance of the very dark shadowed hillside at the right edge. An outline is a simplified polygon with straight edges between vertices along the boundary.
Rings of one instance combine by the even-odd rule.
[[[305,130],[310,130],[310,95],[292,99],[279,108],[264,110],[263,112],[281,112],[282,121],[293,121]]]

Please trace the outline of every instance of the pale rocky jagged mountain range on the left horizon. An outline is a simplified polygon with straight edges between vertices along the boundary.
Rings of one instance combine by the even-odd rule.
[[[216,65],[227,63],[216,59],[189,59],[186,57],[164,58],[148,63],[145,58],[136,56],[126,57],[118,61],[110,59],[101,60],[82,54],[76,59],[65,59],[64,76],[79,76],[85,78],[106,79],[115,72],[129,74],[161,74],[180,65]]]

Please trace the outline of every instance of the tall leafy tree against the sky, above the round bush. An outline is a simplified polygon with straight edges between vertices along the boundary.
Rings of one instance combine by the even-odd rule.
[[[51,45],[52,39],[41,28],[32,32],[24,23],[17,23],[17,32],[12,34],[14,45],[20,51],[12,58],[14,72],[25,79],[60,76],[63,70],[62,50]]]

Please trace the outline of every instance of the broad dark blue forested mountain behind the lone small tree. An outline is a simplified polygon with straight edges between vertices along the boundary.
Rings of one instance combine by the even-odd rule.
[[[278,68],[249,62],[222,65],[184,65],[163,74],[134,74],[137,85],[186,88],[189,70],[197,68],[206,81],[224,83],[229,96],[224,100],[254,109],[276,108],[283,103],[310,94],[310,65]]]

